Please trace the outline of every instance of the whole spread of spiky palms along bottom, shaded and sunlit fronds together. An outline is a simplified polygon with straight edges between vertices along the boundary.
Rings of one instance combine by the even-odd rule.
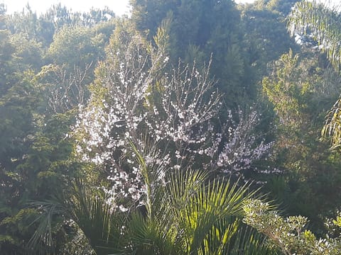
[[[32,244],[52,241],[46,222],[53,208],[77,224],[97,255],[275,254],[264,236],[242,222],[244,201],[255,196],[249,183],[212,179],[193,169],[169,171],[161,183],[166,169],[148,165],[132,148],[146,186],[144,213],[139,208],[112,211],[102,193],[75,181],[68,198],[39,204],[45,214]]]

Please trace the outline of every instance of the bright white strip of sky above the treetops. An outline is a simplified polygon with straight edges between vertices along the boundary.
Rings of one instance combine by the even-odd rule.
[[[254,0],[235,0],[237,3],[252,3]],[[340,4],[340,0],[321,0],[331,1]],[[0,0],[7,6],[7,13],[22,11],[27,3],[33,11],[37,13],[45,12],[53,4],[61,3],[62,6],[72,9],[72,11],[89,11],[90,8],[104,8],[108,6],[117,15],[129,12],[129,0]]]

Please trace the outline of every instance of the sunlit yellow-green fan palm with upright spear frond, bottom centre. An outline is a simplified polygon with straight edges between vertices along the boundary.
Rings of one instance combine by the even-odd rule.
[[[148,182],[157,180],[157,171],[150,173],[144,157],[133,149],[144,176],[150,174]],[[261,252],[264,237],[243,227],[241,220],[244,200],[255,193],[249,192],[248,183],[208,181],[204,171],[182,169],[168,173],[166,184],[151,187],[146,189],[152,198],[147,201],[153,203],[146,206],[150,213],[134,215],[127,226],[132,254],[242,254],[239,249],[266,254]]]

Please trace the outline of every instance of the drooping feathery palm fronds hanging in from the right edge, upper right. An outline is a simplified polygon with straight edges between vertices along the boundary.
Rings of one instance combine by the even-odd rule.
[[[288,28],[292,35],[308,35],[318,42],[332,67],[340,72],[341,15],[336,7],[327,8],[316,1],[296,3],[289,16]],[[341,97],[329,111],[322,135],[331,137],[332,149],[341,147]]]

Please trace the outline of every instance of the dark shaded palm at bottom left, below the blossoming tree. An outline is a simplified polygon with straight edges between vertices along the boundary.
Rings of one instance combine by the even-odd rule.
[[[120,227],[125,215],[112,212],[99,189],[75,180],[65,193],[31,206],[41,212],[36,219],[39,226],[28,244],[32,254],[71,254],[72,251],[72,254],[99,255],[120,251]],[[63,217],[73,232],[72,240],[59,250],[54,242],[56,217]]]

